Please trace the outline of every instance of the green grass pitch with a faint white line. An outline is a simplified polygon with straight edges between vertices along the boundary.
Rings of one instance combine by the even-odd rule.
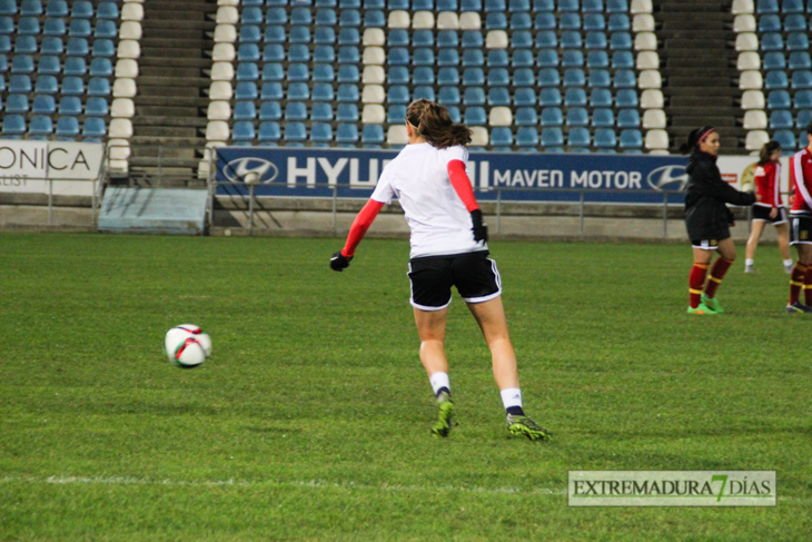
[[[775,247],[701,317],[687,246],[493,243],[533,443],[458,297],[429,435],[408,244],[335,274],[340,245],[0,234],[0,540],[809,540],[812,319]],[[181,323],[200,368],[161,354]],[[776,470],[779,504],[575,509],[568,470]]]

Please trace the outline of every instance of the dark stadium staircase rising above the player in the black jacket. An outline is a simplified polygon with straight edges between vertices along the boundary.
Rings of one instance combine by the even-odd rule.
[[[677,151],[692,129],[712,125],[725,154],[746,152],[746,131],[737,126],[742,92],[730,2],[669,0],[655,6],[671,151]]]

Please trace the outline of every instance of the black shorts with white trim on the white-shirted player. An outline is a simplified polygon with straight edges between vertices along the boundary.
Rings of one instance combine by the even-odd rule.
[[[420,311],[442,311],[452,303],[452,286],[466,303],[484,303],[502,295],[496,262],[486,250],[409,260],[412,298]]]

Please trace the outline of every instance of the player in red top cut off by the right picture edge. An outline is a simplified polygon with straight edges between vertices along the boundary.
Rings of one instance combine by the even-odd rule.
[[[806,148],[790,160],[790,189],[794,194],[790,210],[790,244],[798,262],[790,277],[790,313],[812,313],[812,124],[806,127]],[[800,302],[801,290],[804,303]]]

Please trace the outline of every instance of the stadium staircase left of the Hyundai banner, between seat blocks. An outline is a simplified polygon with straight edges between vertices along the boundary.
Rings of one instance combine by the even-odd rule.
[[[147,2],[130,171],[150,185],[188,184],[206,145],[216,1]]]

